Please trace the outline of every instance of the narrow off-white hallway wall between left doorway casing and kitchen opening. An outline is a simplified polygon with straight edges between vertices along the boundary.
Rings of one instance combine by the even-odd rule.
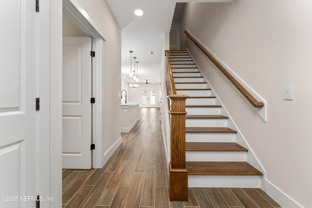
[[[104,44],[104,96],[103,96],[103,152],[104,154],[121,138],[121,30],[105,0],[77,0],[105,35]]]

